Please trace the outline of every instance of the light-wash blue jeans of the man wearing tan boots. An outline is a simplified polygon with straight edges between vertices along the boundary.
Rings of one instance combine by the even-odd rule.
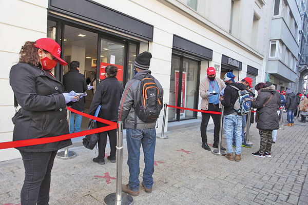
[[[235,153],[241,154],[242,151],[242,116],[237,114],[229,114],[224,116],[223,122],[227,153],[233,153],[232,138],[235,136]]]

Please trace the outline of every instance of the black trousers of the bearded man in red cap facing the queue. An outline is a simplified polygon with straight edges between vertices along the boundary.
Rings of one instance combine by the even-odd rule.
[[[208,110],[207,111],[216,111],[216,112],[221,112],[221,109],[219,109],[219,105],[213,105],[213,104],[208,104]],[[218,144],[219,140],[219,126],[220,126],[220,116],[217,114],[209,114],[209,113],[203,113],[202,112],[202,121],[201,121],[201,138],[202,138],[202,143],[207,143],[207,136],[206,136],[206,128],[208,124],[209,117],[212,117],[214,121],[214,144]]]

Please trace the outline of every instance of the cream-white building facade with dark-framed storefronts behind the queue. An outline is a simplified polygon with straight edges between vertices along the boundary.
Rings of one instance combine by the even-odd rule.
[[[0,44],[0,83],[5,88],[0,142],[12,140],[9,71],[27,40],[55,39],[62,58],[80,61],[86,78],[99,81],[104,66],[117,65],[122,85],[133,77],[134,57],[149,51],[150,70],[162,84],[164,103],[199,109],[199,83],[210,66],[221,77],[233,72],[236,80],[248,76],[254,85],[264,81],[268,9],[264,0],[6,1],[0,12],[0,28],[5,31]],[[62,79],[67,71],[67,66],[57,65],[55,76]],[[91,96],[87,97],[90,104]],[[171,108],[167,112],[169,122],[198,116]],[[158,125],[160,133],[162,117]],[[165,131],[167,127],[166,122]],[[18,157],[15,149],[0,150],[0,161]]]

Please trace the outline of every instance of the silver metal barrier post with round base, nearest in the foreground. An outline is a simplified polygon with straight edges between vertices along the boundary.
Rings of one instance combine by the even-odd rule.
[[[123,122],[118,121],[117,129],[117,186],[116,193],[108,194],[104,198],[106,205],[130,205],[133,202],[132,196],[122,192],[122,163],[123,163]]]

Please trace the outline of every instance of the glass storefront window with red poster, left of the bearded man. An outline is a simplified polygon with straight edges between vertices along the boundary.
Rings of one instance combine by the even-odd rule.
[[[199,93],[197,90],[198,68],[198,61],[172,55],[169,105],[196,109]],[[180,80],[181,75],[182,79]],[[178,104],[179,92],[181,92],[180,104]],[[193,111],[180,110],[180,113],[178,113],[175,108],[169,108],[168,110],[169,121],[195,117],[196,113]]]

